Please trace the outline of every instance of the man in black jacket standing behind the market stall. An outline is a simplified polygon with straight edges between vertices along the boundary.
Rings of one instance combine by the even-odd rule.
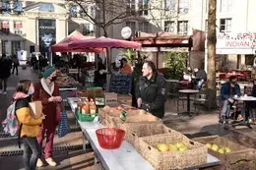
[[[142,68],[142,77],[136,90],[139,108],[142,108],[160,119],[164,116],[165,79],[152,61],[146,61]]]

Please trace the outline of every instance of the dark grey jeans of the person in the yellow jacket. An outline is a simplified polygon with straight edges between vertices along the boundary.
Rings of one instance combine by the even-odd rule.
[[[36,162],[40,156],[40,147],[36,138],[24,137],[24,165],[26,170],[35,170]]]

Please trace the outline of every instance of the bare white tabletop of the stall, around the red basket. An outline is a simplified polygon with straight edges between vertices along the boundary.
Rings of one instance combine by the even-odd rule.
[[[80,101],[78,97],[68,98],[68,102],[71,106],[73,112],[75,112],[76,103]],[[126,141],[123,141],[121,146],[117,149],[103,149],[99,146],[96,139],[96,130],[102,128],[103,126],[98,122],[80,122],[78,121],[84,137],[91,143],[92,148],[96,153],[96,158],[102,165],[103,169],[106,170],[152,170],[154,167],[144,159],[135,149],[135,147]],[[96,159],[95,159],[96,163]],[[197,167],[191,167],[188,169],[198,169],[203,167],[210,167],[221,164],[221,161],[208,154],[207,163]]]

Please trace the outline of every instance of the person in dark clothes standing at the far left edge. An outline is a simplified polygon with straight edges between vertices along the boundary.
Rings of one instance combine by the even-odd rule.
[[[5,54],[2,55],[0,59],[0,93],[7,94],[7,81],[11,76],[12,61],[6,57]]]

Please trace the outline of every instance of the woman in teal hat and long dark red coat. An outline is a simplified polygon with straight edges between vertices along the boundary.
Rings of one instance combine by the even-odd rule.
[[[48,67],[42,73],[43,78],[34,85],[33,100],[40,100],[42,103],[42,113],[46,116],[40,126],[37,142],[42,147],[44,134],[46,132],[46,143],[44,147],[44,158],[50,166],[56,166],[52,158],[53,138],[56,126],[60,121],[60,111],[62,98],[59,94],[59,86],[55,83],[56,70],[54,67]],[[41,159],[37,160],[37,167],[43,165]]]

